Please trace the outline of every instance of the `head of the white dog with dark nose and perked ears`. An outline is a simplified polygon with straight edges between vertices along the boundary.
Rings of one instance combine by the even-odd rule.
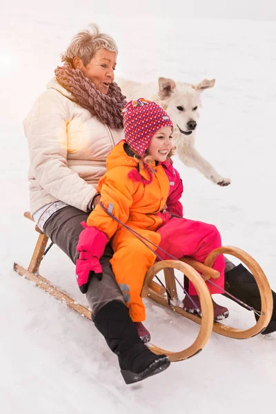
[[[161,106],[168,112],[175,128],[183,135],[192,135],[197,128],[201,92],[213,88],[215,79],[204,79],[193,85],[159,78],[159,99]]]

